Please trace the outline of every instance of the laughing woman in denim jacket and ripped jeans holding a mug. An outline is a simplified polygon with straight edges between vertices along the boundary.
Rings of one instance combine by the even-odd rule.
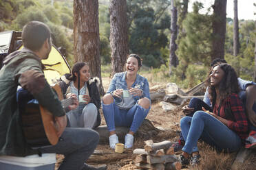
[[[138,75],[140,66],[140,57],[136,54],[129,55],[126,71],[114,75],[107,94],[103,97],[103,114],[112,149],[119,143],[116,126],[130,127],[125,136],[125,148],[131,148],[134,145],[134,133],[149,112],[149,83],[145,77]]]

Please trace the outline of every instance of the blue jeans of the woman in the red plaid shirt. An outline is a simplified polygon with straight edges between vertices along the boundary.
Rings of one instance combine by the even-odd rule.
[[[193,117],[183,117],[180,128],[186,142],[182,151],[189,154],[198,151],[199,138],[219,151],[233,152],[242,147],[241,138],[235,132],[203,111],[195,112]]]

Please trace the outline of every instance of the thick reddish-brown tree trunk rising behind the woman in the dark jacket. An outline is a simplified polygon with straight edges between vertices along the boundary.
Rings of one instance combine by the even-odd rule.
[[[91,77],[100,78],[100,95],[104,95],[100,69],[98,0],[74,0],[74,62],[89,62]]]

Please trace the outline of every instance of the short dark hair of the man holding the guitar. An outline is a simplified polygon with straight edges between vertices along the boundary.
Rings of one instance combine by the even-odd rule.
[[[23,27],[21,37],[24,47],[38,51],[47,38],[50,44],[51,33],[45,23],[30,21]]]

